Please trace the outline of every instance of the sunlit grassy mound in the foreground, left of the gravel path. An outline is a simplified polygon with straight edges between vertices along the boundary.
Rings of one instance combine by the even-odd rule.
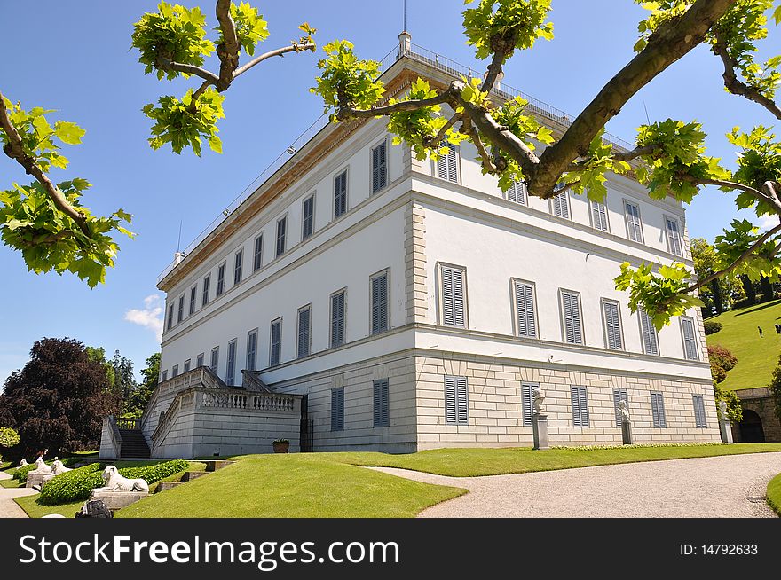
[[[331,454],[248,455],[146,498],[116,517],[414,517],[466,490],[412,482]]]

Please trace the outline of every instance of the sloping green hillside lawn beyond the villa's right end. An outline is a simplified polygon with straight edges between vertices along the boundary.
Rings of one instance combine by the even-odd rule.
[[[781,300],[730,310],[708,320],[724,327],[708,335],[707,343],[726,347],[738,357],[738,364],[727,373],[721,387],[733,390],[767,387],[781,353],[781,334],[774,327],[781,323]],[[760,338],[757,326],[761,326],[764,338]]]

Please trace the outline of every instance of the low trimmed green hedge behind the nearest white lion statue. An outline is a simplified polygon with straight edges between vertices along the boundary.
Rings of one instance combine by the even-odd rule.
[[[104,486],[102,472],[105,463],[91,463],[73,471],[59,474],[46,483],[41,490],[38,503],[43,506],[57,506],[90,498],[91,491]],[[189,461],[174,459],[153,466],[122,467],[119,473],[129,479],[144,479],[147,483],[159,482],[164,477],[185,471]]]

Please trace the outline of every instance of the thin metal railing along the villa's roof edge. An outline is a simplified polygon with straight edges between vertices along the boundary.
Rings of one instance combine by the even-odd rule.
[[[379,61],[380,73],[382,74],[390,67],[392,67],[398,61],[398,59],[406,57],[437,67],[438,70],[446,74],[452,74],[454,76],[461,76],[462,74],[465,76],[472,76],[473,73],[479,74],[477,69],[462,65],[453,59],[448,59],[447,57],[440,55],[437,52],[423,48],[418,44],[410,43],[410,48],[410,51],[400,51],[397,45],[388,51],[383,59]],[[541,114],[542,116],[547,117],[552,121],[563,124],[565,127],[568,127],[572,122],[572,117],[569,114],[564,113],[564,111],[561,109],[557,109],[555,106],[548,105],[548,103],[540,101],[538,98],[533,98],[530,95],[527,95],[525,92],[511,87],[505,82],[498,82],[496,88],[494,88],[492,92],[504,100],[515,97],[524,98],[529,102],[529,106],[533,113]],[[304,145],[306,145],[310,140],[312,140],[312,137],[317,135],[322,129],[325,129],[329,123],[330,117],[328,114],[320,115],[317,121],[314,121],[308,129],[304,130],[304,133],[296,137],[296,140],[294,140],[293,143],[288,147],[287,151],[280,153],[280,155],[274,161],[272,161],[269,166],[266,167],[266,169],[264,169],[263,172],[252,181],[251,184],[248,184],[243,192],[236,196],[236,198],[228,205],[227,208],[225,208],[221,215],[212,220],[212,222],[209,223],[209,225],[207,225],[187,247],[185,247],[182,254],[185,256],[190,255],[190,253],[193,252],[193,250],[198,247],[204,239],[209,237],[209,234],[212,231],[215,231],[217,227],[228,218],[228,216],[231,216],[233,212],[236,211],[236,209],[238,209],[242,203],[244,203],[244,201],[248,200],[248,198],[254,192],[256,192],[261,185],[268,181],[275,173],[277,173],[277,171],[282,169],[282,167],[288,161],[294,159],[296,152],[304,147]],[[628,151],[634,148],[634,145],[628,141],[611,135],[610,133],[604,133],[603,140],[606,143],[616,145],[619,147],[619,150]],[[289,153],[291,150],[293,153]],[[179,262],[180,261],[177,262],[175,259],[169,263],[169,265],[166,266],[157,277],[156,284],[160,284]]]

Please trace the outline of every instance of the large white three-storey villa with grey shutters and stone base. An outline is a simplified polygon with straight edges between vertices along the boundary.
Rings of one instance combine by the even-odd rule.
[[[401,41],[387,97],[461,74]],[[472,145],[416,161],[386,123],[307,136],[163,272],[161,383],[102,455],[140,452],[139,429],[154,457],[530,446],[535,388],[551,445],[620,444],[621,399],[636,443],[720,441],[699,311],[657,333],[613,282],[692,268],[681,203],[625,176],[604,204],[502,194]]]

